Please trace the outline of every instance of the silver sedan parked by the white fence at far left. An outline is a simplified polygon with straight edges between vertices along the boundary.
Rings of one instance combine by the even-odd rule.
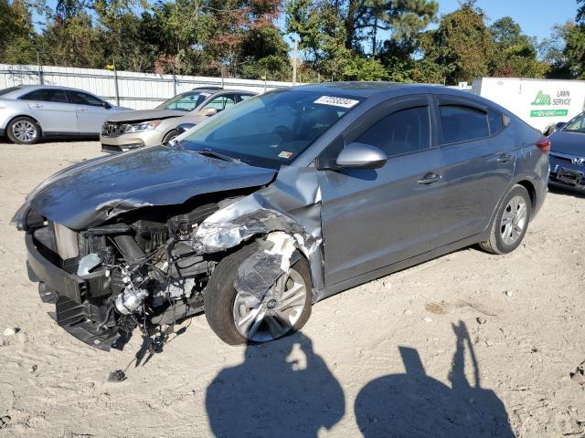
[[[81,89],[19,85],[0,90],[0,136],[20,144],[97,136],[108,115],[126,110]]]

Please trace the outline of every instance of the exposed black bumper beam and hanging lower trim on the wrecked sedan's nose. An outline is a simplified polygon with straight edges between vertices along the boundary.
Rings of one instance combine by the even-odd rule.
[[[49,313],[51,318],[91,347],[105,351],[122,349],[130,335],[112,323],[103,306],[92,302],[95,297],[110,293],[110,278],[102,273],[81,277],[61,269],[43,255],[48,248],[36,240],[32,231],[27,232],[25,241],[28,277],[39,283],[41,299],[56,305],[56,311]]]

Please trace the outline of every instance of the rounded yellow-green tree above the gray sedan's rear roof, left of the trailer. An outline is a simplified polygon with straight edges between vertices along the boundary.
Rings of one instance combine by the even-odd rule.
[[[438,29],[420,36],[423,58],[427,65],[439,66],[446,83],[454,85],[488,75],[495,43],[484,20],[484,12],[468,1],[443,16]]]

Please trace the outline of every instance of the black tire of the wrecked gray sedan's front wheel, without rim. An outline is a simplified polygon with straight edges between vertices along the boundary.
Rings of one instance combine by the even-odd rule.
[[[215,334],[218,335],[219,339],[229,345],[250,343],[249,339],[246,339],[239,333],[234,322],[233,307],[237,291],[233,284],[238,275],[238,266],[250,257],[250,255],[252,255],[257,249],[258,245],[256,244],[247,245],[221,260],[209,278],[209,282],[205,289],[204,306],[207,323]],[[313,287],[309,265],[306,260],[301,257],[301,259],[291,268],[303,276],[307,293],[301,318],[299,318],[296,324],[294,324],[284,336],[303,328],[304,324],[311,316],[311,296]]]

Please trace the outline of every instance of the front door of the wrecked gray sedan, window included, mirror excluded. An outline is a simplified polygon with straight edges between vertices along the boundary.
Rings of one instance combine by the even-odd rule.
[[[338,150],[367,143],[385,151],[388,162],[318,171],[328,287],[431,250],[444,223],[437,217],[441,151],[433,147],[430,99],[401,99],[374,111],[338,140]],[[334,143],[324,155],[336,156],[336,149]]]

